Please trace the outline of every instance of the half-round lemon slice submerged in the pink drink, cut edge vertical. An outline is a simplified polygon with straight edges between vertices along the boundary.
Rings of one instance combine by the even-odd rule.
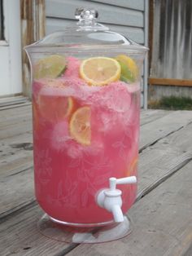
[[[76,139],[78,143],[90,145],[91,130],[90,130],[90,108],[78,108],[73,113],[69,123],[70,135]]]

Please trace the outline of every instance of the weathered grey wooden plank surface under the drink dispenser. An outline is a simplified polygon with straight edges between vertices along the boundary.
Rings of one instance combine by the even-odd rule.
[[[29,103],[1,108],[0,139],[0,255],[192,255],[192,112],[142,111],[133,232],[103,244],[65,244],[37,231]]]

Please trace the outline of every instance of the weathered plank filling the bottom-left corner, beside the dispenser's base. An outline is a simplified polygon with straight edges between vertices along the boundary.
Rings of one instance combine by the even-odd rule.
[[[41,209],[33,206],[1,223],[1,255],[53,256],[68,248],[68,244],[51,240],[37,231],[37,221],[41,215]]]

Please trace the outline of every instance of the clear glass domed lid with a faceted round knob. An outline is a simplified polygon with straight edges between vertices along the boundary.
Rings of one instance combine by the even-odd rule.
[[[76,25],[68,27],[64,30],[50,33],[45,38],[32,45],[26,46],[28,48],[42,47],[94,47],[94,46],[109,46],[119,47],[123,46],[132,51],[142,52],[147,51],[145,46],[141,46],[133,42],[130,38],[125,38],[120,33],[112,32],[103,24],[97,22],[98,11],[86,8],[77,8],[75,17],[79,21]],[[37,50],[37,49],[36,49]],[[40,50],[40,49],[39,49]]]

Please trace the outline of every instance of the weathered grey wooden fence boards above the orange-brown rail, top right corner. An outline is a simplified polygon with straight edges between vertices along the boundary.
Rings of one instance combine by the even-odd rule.
[[[191,27],[191,0],[155,0],[151,77],[192,78]]]

